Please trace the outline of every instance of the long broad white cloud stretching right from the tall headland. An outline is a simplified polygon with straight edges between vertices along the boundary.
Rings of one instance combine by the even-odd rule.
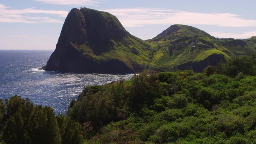
[[[118,8],[104,10],[118,17],[126,27],[146,24],[204,24],[229,27],[256,26],[256,20],[229,13],[196,13],[157,8]]]

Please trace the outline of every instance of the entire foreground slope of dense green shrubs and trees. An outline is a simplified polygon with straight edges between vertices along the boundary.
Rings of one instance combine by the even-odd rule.
[[[144,71],[88,86],[66,116],[20,96],[0,99],[0,143],[255,144],[256,53],[204,73]]]

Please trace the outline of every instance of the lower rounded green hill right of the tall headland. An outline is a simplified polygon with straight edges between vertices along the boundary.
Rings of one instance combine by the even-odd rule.
[[[160,70],[191,67],[202,71],[207,65],[216,65],[234,56],[206,32],[186,25],[172,25],[155,38],[147,40],[157,47],[151,61]]]

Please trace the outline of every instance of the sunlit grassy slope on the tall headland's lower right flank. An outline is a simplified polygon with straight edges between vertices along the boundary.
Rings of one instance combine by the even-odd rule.
[[[149,54],[152,48],[148,42],[144,42],[136,37],[127,36],[120,42],[111,40],[112,44],[107,52],[96,55],[92,48],[86,44],[73,45],[83,56],[93,58],[96,62],[104,62],[117,59],[124,62],[131,69],[136,65],[146,65],[150,61]],[[140,71],[140,70],[139,70]],[[136,70],[134,72],[137,72]]]

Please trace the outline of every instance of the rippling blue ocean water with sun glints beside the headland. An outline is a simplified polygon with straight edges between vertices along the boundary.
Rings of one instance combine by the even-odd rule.
[[[78,74],[38,70],[46,65],[52,51],[0,50],[0,99],[17,94],[35,105],[51,106],[65,114],[72,99],[84,86],[106,84],[133,74]]]

